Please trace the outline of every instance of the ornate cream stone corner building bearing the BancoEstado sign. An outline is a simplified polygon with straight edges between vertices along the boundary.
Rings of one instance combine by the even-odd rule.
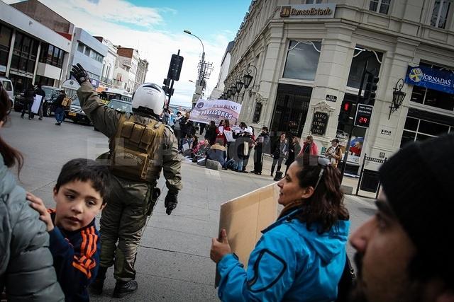
[[[348,147],[358,165],[365,153],[387,158],[408,141],[454,132],[453,70],[453,1],[269,0],[250,4],[224,82],[253,76],[232,97],[240,120],[274,136],[311,134],[323,150],[347,140],[343,103],[363,102],[362,75],[377,77],[369,127],[355,127]]]

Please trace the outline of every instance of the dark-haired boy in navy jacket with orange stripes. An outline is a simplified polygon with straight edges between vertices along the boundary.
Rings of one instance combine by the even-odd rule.
[[[27,193],[50,236],[57,280],[66,301],[89,301],[87,286],[99,268],[99,234],[94,217],[106,205],[110,175],[104,165],[85,158],[63,165],[54,187],[55,209]]]

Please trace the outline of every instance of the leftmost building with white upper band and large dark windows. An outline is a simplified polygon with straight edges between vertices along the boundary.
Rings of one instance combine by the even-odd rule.
[[[70,35],[0,1],[0,74],[11,79],[15,93],[36,83],[59,86],[70,49]]]

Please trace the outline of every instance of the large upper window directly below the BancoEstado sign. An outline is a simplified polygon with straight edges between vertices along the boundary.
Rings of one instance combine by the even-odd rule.
[[[290,41],[283,77],[314,81],[320,50],[321,42]]]

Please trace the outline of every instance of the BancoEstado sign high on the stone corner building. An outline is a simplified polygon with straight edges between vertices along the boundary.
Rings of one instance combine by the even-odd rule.
[[[281,6],[281,18],[334,18],[336,4],[299,4]]]

